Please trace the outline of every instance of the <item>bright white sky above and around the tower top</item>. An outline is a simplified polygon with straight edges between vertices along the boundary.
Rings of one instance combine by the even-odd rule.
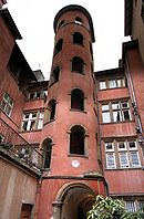
[[[17,41],[32,70],[41,69],[49,80],[53,46],[53,20],[69,4],[80,4],[91,14],[95,43],[94,71],[117,67],[124,38],[124,0],[8,0],[22,40]]]

